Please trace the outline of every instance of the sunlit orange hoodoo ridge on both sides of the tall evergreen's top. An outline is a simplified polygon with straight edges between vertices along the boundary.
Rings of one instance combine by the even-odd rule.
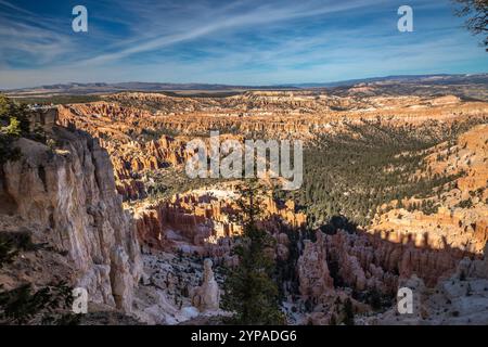
[[[230,188],[231,189],[231,188]],[[228,196],[214,196],[217,195]],[[168,243],[167,234],[171,230],[194,246],[208,250],[215,245],[216,252],[222,254],[229,247],[222,248],[220,239],[237,235],[242,227],[231,218],[239,210],[232,190],[204,190],[185,194],[177,194],[171,201],[162,201],[154,205],[136,209],[136,220],[141,240],[154,246],[168,247],[175,243]],[[303,213],[295,213],[294,204],[286,203],[278,206],[272,200],[265,200],[265,218],[262,227],[277,234],[280,256],[287,257],[288,240],[286,234],[280,234],[278,222],[283,222],[290,228],[298,228],[306,221]],[[157,241],[156,241],[157,240]],[[219,248],[220,247],[220,248]],[[203,252],[203,250],[202,250]]]

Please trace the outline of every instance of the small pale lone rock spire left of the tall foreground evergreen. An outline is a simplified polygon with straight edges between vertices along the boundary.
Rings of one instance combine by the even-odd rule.
[[[214,278],[211,265],[210,259],[205,259],[203,283],[201,286],[195,287],[192,293],[192,305],[200,311],[219,309],[220,290]]]

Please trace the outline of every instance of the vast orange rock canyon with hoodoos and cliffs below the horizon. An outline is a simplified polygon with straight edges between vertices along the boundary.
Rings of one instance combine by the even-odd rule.
[[[259,226],[275,240],[282,309],[290,324],[341,323],[347,300],[356,324],[488,322],[486,101],[377,95],[364,86],[336,94],[120,92],[102,99],[31,111],[31,130],[51,145],[21,138],[21,159],[2,165],[1,230],[28,231],[55,249],[5,266],[0,278],[7,288],[68,279],[88,290],[92,316],[115,310],[149,324],[224,317],[221,270],[235,264],[233,239],[242,233],[234,218],[240,181],[189,179],[187,143],[207,141],[218,129],[239,141],[297,139],[306,147],[324,137],[347,138],[368,150],[375,140],[360,129],[376,129],[377,139],[385,129],[408,129],[428,139],[418,153],[394,156],[419,156],[409,180],[445,181],[422,194],[380,201],[370,220],[351,221],[354,228],[331,222],[351,220],[346,210],[314,211],[324,221],[312,223],[313,201],[277,195],[275,182],[261,180]],[[397,165],[401,171],[400,164],[384,170]],[[402,286],[419,295],[414,314],[395,309]]]

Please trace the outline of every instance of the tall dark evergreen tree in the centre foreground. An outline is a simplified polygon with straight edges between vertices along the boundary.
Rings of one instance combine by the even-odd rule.
[[[237,206],[243,233],[235,237],[232,254],[239,265],[227,269],[222,308],[233,312],[235,324],[283,324],[274,273],[273,239],[257,226],[261,216],[260,200],[254,187],[240,188]]]

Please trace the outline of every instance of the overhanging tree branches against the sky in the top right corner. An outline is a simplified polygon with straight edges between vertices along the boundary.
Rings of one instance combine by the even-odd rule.
[[[473,35],[488,33],[488,0],[454,0],[454,2],[460,7],[455,14],[460,17],[468,17],[465,25]],[[483,43],[487,47],[488,52],[488,36],[485,37]]]

